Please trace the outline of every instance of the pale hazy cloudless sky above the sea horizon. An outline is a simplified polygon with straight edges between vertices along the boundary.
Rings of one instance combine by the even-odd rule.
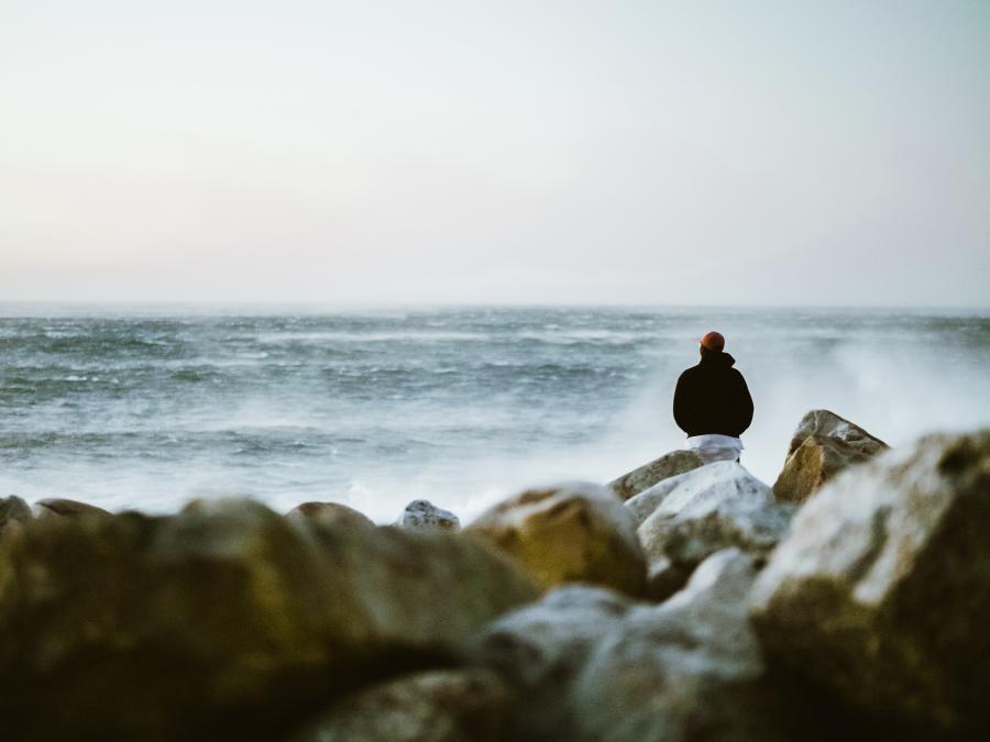
[[[990,306],[990,2],[0,0],[0,300]]]

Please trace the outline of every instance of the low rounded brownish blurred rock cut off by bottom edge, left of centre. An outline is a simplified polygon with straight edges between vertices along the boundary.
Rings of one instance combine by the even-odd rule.
[[[438,669],[341,698],[293,742],[498,742],[508,691],[485,669]]]

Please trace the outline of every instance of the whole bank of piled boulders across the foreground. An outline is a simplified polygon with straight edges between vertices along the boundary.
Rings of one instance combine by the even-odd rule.
[[[772,487],[672,452],[463,529],[9,497],[3,739],[986,739],[988,530],[990,431],[826,410]]]

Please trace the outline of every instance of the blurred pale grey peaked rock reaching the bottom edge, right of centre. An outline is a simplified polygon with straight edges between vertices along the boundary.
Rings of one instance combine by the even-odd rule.
[[[570,691],[572,740],[750,742],[780,739],[767,713],[759,646],[746,616],[756,567],[710,556],[660,607],[607,627]]]

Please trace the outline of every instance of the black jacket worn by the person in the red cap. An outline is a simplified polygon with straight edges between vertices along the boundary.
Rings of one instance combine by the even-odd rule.
[[[706,353],[678,379],[674,420],[688,435],[738,438],[752,422],[752,397],[728,353]]]

